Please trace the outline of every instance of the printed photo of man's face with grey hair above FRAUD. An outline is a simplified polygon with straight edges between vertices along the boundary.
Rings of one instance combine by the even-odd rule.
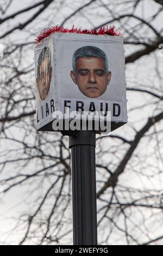
[[[80,92],[90,98],[105,93],[111,79],[105,53],[95,46],[84,46],[73,54],[70,76]]]

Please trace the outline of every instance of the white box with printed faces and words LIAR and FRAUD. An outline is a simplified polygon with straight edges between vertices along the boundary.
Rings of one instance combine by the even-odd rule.
[[[127,123],[122,36],[54,33],[35,47],[35,77],[37,130],[52,131],[66,111],[110,112],[111,130]]]

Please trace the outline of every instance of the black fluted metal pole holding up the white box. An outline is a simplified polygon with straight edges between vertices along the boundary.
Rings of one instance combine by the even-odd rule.
[[[97,245],[96,133],[74,131],[72,149],[72,202],[74,245]]]

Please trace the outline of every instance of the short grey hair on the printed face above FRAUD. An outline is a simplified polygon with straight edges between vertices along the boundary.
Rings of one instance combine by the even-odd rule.
[[[105,70],[106,70],[106,72],[109,71],[108,59],[106,57],[105,52],[103,50],[101,50],[100,48],[95,47],[95,46],[83,46],[83,47],[78,48],[73,53],[73,57],[72,57],[72,68],[73,68],[73,71],[76,70],[76,60],[78,58],[82,58],[82,57],[95,57],[95,58],[102,58],[102,59],[104,59]]]

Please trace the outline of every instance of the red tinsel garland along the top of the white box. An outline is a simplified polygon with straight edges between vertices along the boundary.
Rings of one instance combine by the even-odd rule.
[[[46,28],[36,37],[36,44],[38,44],[43,38],[53,34],[53,33],[77,33],[77,34],[91,34],[91,35],[121,35],[121,31],[116,31],[115,27],[101,27],[98,29],[90,30],[90,29],[82,29],[82,28],[74,28],[71,29],[61,27],[59,25],[51,28]]]

